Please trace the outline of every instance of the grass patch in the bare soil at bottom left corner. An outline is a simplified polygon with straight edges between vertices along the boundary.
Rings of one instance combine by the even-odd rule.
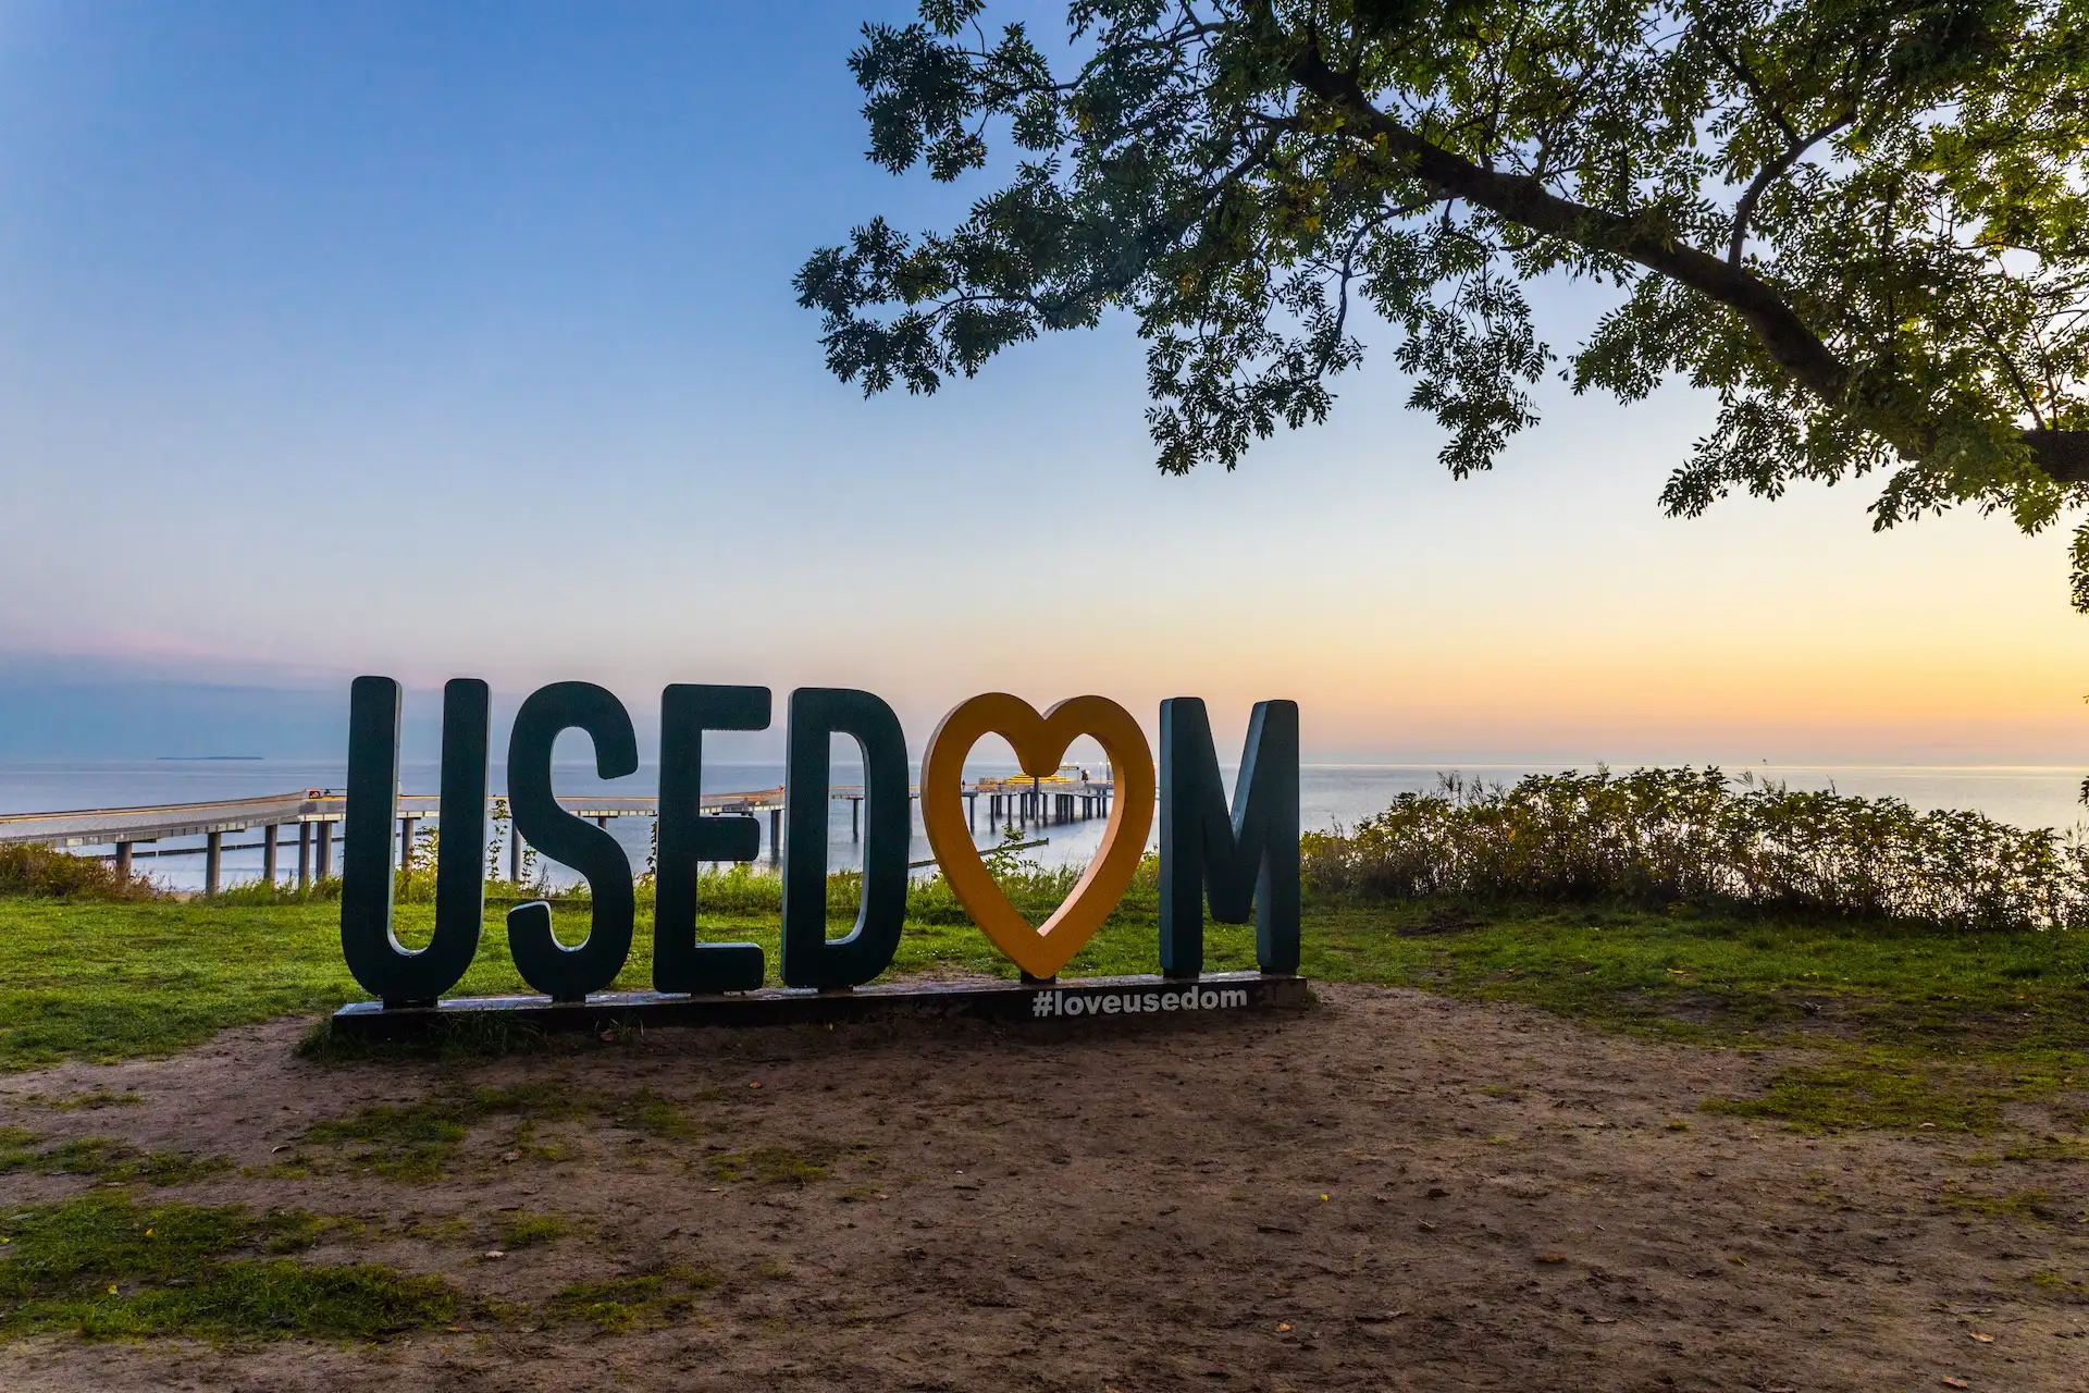
[[[0,1335],[374,1339],[455,1316],[441,1278],[284,1257],[326,1228],[303,1211],[104,1193],[19,1209],[0,1220]]]

